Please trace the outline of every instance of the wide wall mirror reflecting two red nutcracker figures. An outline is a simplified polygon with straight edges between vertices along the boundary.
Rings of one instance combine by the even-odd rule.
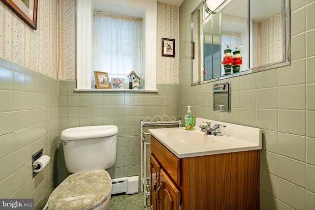
[[[290,64],[289,0],[202,0],[191,13],[191,85]]]

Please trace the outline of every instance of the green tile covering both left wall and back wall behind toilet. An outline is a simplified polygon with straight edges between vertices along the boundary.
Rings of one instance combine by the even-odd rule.
[[[60,144],[63,129],[115,124],[119,128],[112,178],[140,175],[140,120],[179,118],[179,85],[158,84],[157,93],[76,92],[75,80],[55,80],[0,59],[1,198],[34,198],[41,210],[67,175]],[[31,157],[44,150],[49,165],[32,178]],[[150,147],[148,146],[150,151]],[[149,160],[149,154],[147,155]],[[149,172],[149,164],[147,164]],[[140,182],[139,182],[140,183]]]

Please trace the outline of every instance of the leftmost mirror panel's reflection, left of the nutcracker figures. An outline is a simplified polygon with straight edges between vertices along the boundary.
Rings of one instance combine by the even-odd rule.
[[[209,4],[202,1],[191,13],[192,84],[221,76],[221,13],[218,7],[225,1]]]

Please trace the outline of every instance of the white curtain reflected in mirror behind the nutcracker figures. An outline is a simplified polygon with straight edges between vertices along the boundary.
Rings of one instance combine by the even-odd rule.
[[[232,56],[233,56],[233,51],[235,51],[235,46],[240,46],[241,45],[241,34],[239,33],[231,33],[231,32],[225,32],[222,31],[221,34],[221,58],[224,58],[224,50],[226,49],[226,45],[229,45],[229,48],[232,50]],[[224,74],[224,66],[221,65],[221,75]]]

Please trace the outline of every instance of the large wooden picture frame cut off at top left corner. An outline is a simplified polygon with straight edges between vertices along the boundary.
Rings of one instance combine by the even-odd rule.
[[[36,30],[37,26],[37,0],[1,0],[26,24]]]

